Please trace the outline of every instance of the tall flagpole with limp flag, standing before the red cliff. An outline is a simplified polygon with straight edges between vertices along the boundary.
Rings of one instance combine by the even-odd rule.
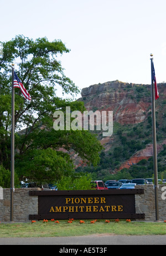
[[[153,54],[151,54],[151,57]],[[155,126],[155,98],[154,98],[154,83],[153,83],[153,58],[151,58],[151,98],[152,98],[152,134],[153,134],[153,168],[154,168],[154,192],[155,192],[155,221],[159,220],[158,211],[158,169],[157,169],[157,140]]]

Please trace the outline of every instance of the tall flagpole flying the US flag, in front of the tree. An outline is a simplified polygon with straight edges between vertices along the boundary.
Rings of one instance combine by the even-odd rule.
[[[12,64],[12,130],[11,130],[11,221],[14,201],[14,64]]]

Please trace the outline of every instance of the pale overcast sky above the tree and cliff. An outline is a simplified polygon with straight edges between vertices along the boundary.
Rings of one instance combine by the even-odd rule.
[[[80,88],[120,80],[166,81],[165,0],[0,0],[0,41],[23,34],[61,39],[60,60]]]

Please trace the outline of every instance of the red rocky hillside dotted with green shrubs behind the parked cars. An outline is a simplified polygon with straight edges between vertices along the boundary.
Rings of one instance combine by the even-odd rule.
[[[158,84],[158,91],[155,111],[159,154],[166,144],[166,83]],[[102,132],[96,131],[104,147],[97,167],[100,173],[115,173],[123,168],[131,168],[143,159],[147,161],[152,158],[151,85],[116,80],[84,88],[81,96],[79,100],[84,101],[87,110],[113,111],[113,135],[102,137]],[[166,170],[165,155],[163,153],[159,159],[159,171]],[[150,172],[153,171],[152,166],[151,169]]]

